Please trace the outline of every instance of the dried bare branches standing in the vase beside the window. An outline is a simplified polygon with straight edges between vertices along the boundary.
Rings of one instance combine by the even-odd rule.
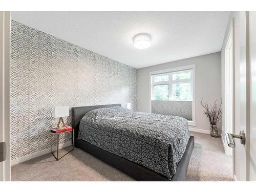
[[[214,105],[209,105],[208,103],[205,103],[203,99],[201,100],[201,105],[204,108],[204,114],[208,117],[210,124],[217,124],[219,120],[221,119],[221,104],[218,106],[217,100],[215,100]]]

